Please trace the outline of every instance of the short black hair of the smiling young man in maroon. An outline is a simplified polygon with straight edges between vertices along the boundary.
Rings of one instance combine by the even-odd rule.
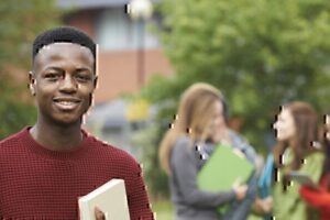
[[[74,43],[89,48],[96,63],[96,44],[95,42],[82,31],[73,26],[59,26],[47,30],[37,35],[33,42],[32,59],[34,62],[35,56],[41,48],[53,43]]]

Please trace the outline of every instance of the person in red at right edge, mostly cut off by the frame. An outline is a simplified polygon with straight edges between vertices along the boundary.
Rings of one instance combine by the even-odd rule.
[[[301,186],[300,195],[309,205],[320,211],[321,220],[330,219],[330,113],[326,116],[323,138],[321,140],[326,153],[323,170],[319,187]]]

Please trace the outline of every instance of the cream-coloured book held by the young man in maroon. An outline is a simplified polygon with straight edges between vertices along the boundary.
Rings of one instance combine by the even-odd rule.
[[[98,207],[106,220],[130,220],[129,205],[123,179],[111,179],[94,191],[78,199],[81,220],[95,220]]]

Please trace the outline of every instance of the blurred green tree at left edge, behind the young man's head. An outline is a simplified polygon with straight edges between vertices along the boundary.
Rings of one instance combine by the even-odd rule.
[[[0,140],[35,120],[32,101],[24,98],[29,96],[28,81],[16,79],[28,79],[28,69],[31,68],[31,45],[35,34],[55,25],[59,15],[61,13],[55,8],[54,1],[1,1]],[[13,76],[13,74],[19,73],[26,75]]]

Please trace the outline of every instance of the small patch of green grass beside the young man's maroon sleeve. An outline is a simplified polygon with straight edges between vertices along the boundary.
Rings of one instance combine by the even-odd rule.
[[[152,201],[152,209],[156,220],[174,220],[174,208],[169,200]]]

